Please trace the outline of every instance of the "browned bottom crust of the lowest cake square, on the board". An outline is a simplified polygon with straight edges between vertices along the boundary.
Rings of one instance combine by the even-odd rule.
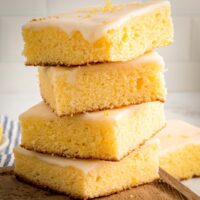
[[[144,184],[151,183],[151,182],[153,182],[153,181],[159,180],[159,175],[158,175],[158,177],[155,177],[155,178],[153,178],[152,180],[149,180],[148,182],[142,182],[142,183],[140,183],[140,184],[138,184],[138,185],[135,185],[135,186],[126,186],[126,187],[122,187],[122,188],[120,188],[120,189],[118,189],[118,190],[116,189],[116,190],[110,191],[110,192],[108,192],[108,193],[105,193],[105,194],[102,194],[102,195],[100,194],[99,196],[90,198],[90,197],[88,197],[88,196],[84,196],[84,197],[81,197],[81,196],[73,196],[73,195],[71,195],[71,194],[68,194],[68,193],[65,193],[65,192],[61,192],[61,191],[58,191],[58,190],[56,190],[56,189],[50,188],[50,187],[48,187],[48,186],[45,186],[45,185],[43,185],[43,184],[41,184],[41,183],[36,183],[36,182],[34,182],[34,181],[31,181],[31,180],[29,180],[28,178],[24,177],[23,175],[17,174],[16,172],[15,172],[14,174],[15,174],[16,178],[17,178],[19,181],[22,181],[22,182],[24,182],[24,183],[28,183],[28,184],[30,184],[30,185],[32,185],[32,186],[37,187],[37,188],[44,189],[44,190],[47,190],[47,191],[49,191],[49,192],[55,192],[55,193],[58,193],[58,194],[64,194],[64,195],[67,195],[67,196],[69,196],[69,197],[71,197],[71,198],[74,198],[74,199],[82,199],[82,200],[87,200],[87,199],[94,199],[94,198],[99,198],[99,197],[110,196],[110,195],[112,195],[112,194],[120,193],[120,192],[122,192],[122,191],[124,191],[124,190],[129,190],[129,189],[132,189],[132,188],[135,188],[135,187],[138,187],[138,186],[141,186],[141,185],[144,185]]]

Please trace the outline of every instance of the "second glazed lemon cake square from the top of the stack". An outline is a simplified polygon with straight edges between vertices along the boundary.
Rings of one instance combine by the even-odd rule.
[[[164,62],[156,52],[93,66],[39,67],[40,91],[57,115],[165,101]]]

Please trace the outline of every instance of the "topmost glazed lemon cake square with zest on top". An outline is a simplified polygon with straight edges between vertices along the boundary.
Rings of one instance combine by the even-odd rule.
[[[23,26],[27,65],[83,65],[127,61],[172,43],[168,1],[106,4]]]

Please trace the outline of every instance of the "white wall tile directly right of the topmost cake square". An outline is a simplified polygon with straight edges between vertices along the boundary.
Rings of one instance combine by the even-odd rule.
[[[191,48],[190,17],[174,17],[174,43],[158,51],[168,61],[189,61]]]

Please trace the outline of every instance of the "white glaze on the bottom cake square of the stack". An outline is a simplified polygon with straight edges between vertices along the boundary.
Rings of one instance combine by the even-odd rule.
[[[156,143],[159,145],[159,140],[157,138],[153,138],[149,140],[143,147],[150,146],[153,143]],[[54,164],[60,167],[74,167],[76,169],[83,171],[85,174],[91,172],[92,170],[95,170],[96,168],[102,167],[105,164],[113,163],[113,161],[92,160],[92,159],[69,159],[69,158],[63,158],[63,157],[58,157],[58,156],[51,156],[48,154],[42,154],[42,153],[30,151],[20,146],[15,147],[15,151],[26,156],[36,157],[39,160],[42,160],[44,162]]]

